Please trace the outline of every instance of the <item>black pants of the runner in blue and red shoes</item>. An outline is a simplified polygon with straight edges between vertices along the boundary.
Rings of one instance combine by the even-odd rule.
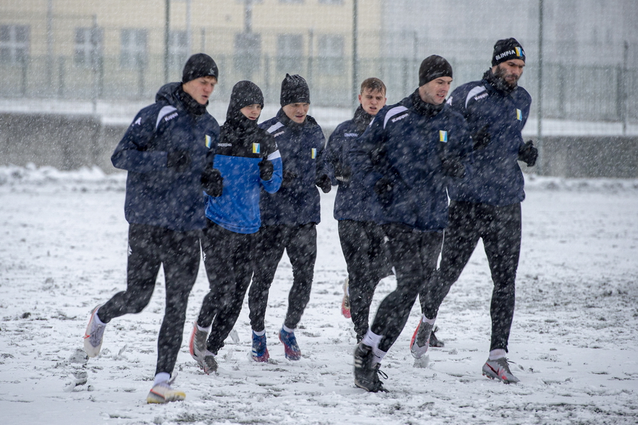
[[[248,293],[250,326],[253,331],[265,329],[268,292],[284,249],[293,268],[293,285],[284,320],[286,327],[296,328],[310,300],[317,258],[316,224],[263,226],[259,230],[259,242],[254,255],[254,275]]]

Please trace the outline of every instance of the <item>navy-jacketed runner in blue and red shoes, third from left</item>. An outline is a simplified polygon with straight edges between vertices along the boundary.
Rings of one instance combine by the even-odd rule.
[[[284,180],[278,192],[262,190],[259,209],[262,228],[254,255],[254,275],[248,292],[252,327],[252,358],[263,362],[269,358],[264,317],[268,292],[277,265],[288,253],[293,267],[293,285],[288,311],[279,340],[286,358],[299,360],[294,330],[310,299],[315,259],[317,257],[317,223],[320,221],[319,192],[330,192],[332,184],[325,171],[325,138],[315,118],[308,115],[310,89],[303,77],[286,74],[281,82],[281,109],[274,118],[259,124],[274,136],[281,160]]]

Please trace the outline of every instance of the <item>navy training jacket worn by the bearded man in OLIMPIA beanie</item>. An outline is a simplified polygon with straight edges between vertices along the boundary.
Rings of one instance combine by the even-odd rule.
[[[521,131],[530,114],[530,94],[522,87],[503,92],[483,78],[457,87],[448,103],[464,116],[472,134],[486,124],[491,134],[486,148],[474,151],[471,177],[450,185],[450,199],[496,206],[525,199],[517,159],[524,144]]]

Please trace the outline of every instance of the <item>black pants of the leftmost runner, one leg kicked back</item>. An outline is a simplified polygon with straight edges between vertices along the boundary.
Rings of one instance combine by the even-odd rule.
[[[113,295],[98,311],[104,323],[124,314],[140,313],[150,302],[159,266],[164,265],[166,310],[157,339],[155,374],[172,374],[177,360],[189,294],[199,269],[200,234],[131,223],[126,290]]]

